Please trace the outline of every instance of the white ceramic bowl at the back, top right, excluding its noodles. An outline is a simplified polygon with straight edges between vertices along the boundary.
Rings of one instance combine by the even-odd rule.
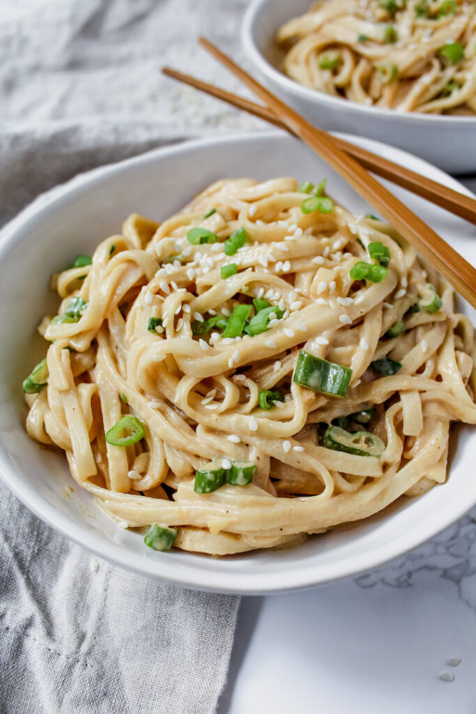
[[[475,174],[476,116],[363,106],[308,89],[276,69],[283,60],[275,42],[279,27],[311,4],[311,0],[253,0],[248,7],[241,28],[243,49],[268,89],[321,129],[369,136],[422,156],[451,174]]]

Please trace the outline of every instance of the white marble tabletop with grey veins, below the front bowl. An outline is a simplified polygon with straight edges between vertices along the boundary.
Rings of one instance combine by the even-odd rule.
[[[218,714],[475,714],[475,516],[355,580],[243,598]]]

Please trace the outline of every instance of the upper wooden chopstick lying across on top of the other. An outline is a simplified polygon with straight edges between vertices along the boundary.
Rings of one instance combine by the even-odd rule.
[[[207,39],[199,39],[201,46],[212,54],[223,66],[229,69],[243,84],[248,86],[268,109],[283,121],[293,133],[319,154],[329,166],[345,178],[360,196],[376,208],[384,218],[404,236],[407,241],[432,262],[447,281],[476,308],[476,269],[460,256],[448,243],[445,243],[430,226],[422,221],[405,203],[399,201],[390,191],[360,166],[352,156],[346,154],[333,142],[328,141],[328,134],[315,129],[308,121],[278,99],[272,92],[241,69],[236,62],[213,45]]]

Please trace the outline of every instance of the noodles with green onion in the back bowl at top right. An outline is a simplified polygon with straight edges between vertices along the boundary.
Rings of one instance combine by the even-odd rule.
[[[476,113],[476,6],[466,0],[323,0],[278,31],[283,69],[359,104]]]

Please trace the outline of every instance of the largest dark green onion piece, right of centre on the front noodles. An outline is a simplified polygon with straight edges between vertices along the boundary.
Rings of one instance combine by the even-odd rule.
[[[345,397],[352,377],[350,367],[328,362],[301,350],[293,381],[316,392]]]

